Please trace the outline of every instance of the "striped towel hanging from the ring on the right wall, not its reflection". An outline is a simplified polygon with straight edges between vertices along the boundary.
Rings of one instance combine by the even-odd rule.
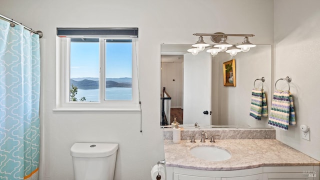
[[[293,98],[290,91],[275,90],[268,124],[283,130],[287,130],[289,124],[295,125]]]

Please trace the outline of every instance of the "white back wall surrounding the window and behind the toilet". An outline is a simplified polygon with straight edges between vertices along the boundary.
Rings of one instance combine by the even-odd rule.
[[[1,14],[44,33],[45,48],[42,49],[42,53],[45,51],[45,54],[42,54],[44,57],[41,59],[43,148],[40,179],[73,179],[69,148],[76,141],[117,142],[119,150],[115,179],[150,178],[150,166],[164,159],[163,135],[159,128],[160,43],[191,44],[197,40],[193,33],[218,31],[253,33],[255,37],[250,39],[253,43],[273,43],[273,0],[197,0],[196,2],[194,0],[0,0],[0,2]],[[228,13],[225,14],[225,11]],[[194,15],[203,12],[203,16]],[[56,27],[139,28],[138,66],[142,133],[140,133],[140,115],[134,112],[52,111],[55,108],[56,91]],[[204,39],[209,41],[206,37]],[[287,73],[277,74],[277,76],[283,75]],[[296,76],[292,77],[294,83],[299,82]],[[302,85],[305,82],[297,84]],[[305,111],[307,113],[308,110]],[[311,134],[313,134],[312,140],[315,140],[315,132]]]

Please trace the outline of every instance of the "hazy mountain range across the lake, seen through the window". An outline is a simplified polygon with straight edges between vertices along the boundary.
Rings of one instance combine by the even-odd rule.
[[[70,86],[73,84],[78,89],[97,89],[99,88],[99,80],[96,77],[80,77],[71,78]],[[105,87],[131,87],[132,78],[121,77],[121,78],[106,78]]]

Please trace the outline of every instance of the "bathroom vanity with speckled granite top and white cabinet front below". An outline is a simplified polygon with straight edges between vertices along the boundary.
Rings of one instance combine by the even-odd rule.
[[[185,133],[200,132],[195,130]],[[210,132],[220,133],[221,137],[225,137],[218,130]],[[245,133],[250,134],[250,129]],[[168,137],[167,133],[164,133],[164,136]],[[186,137],[179,144],[164,138],[166,179],[319,179],[319,161],[274,138],[240,137],[215,139],[215,143],[210,142],[210,138],[205,139],[205,142],[195,138],[195,143],[191,143],[189,139],[185,140],[189,138]],[[201,159],[190,152],[190,149],[198,146],[215,146],[229,152],[231,157],[217,161],[205,157]]]

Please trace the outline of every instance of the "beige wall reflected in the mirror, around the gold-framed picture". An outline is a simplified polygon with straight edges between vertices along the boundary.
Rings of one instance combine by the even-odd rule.
[[[271,85],[271,45],[257,45],[248,52],[235,56],[219,52],[212,57],[212,124],[269,127],[267,117],[255,120],[249,116],[251,89],[253,82],[265,78],[263,89],[267,98],[268,110],[271,107],[273,86]],[[223,62],[235,59],[236,86],[223,86]],[[255,87],[261,88],[257,80]]]

